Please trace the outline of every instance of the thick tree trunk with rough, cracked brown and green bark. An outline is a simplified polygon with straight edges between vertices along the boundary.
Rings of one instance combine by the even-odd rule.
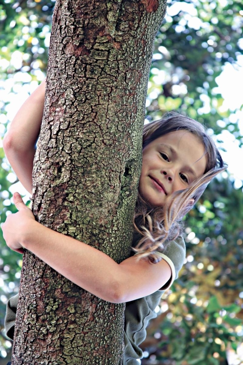
[[[32,208],[40,223],[117,262],[130,253],[144,104],[165,7],[57,0],[54,9]],[[26,252],[12,364],[122,364],[124,308]]]

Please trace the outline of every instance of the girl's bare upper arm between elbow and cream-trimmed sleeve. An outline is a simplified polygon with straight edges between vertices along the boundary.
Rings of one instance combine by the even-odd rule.
[[[117,303],[135,300],[156,292],[170,281],[173,270],[164,259],[157,264],[151,264],[144,258],[138,260],[136,255],[122,261],[119,266],[122,274]]]

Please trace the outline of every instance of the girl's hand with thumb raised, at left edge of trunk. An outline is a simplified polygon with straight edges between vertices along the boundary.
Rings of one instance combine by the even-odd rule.
[[[24,234],[33,221],[35,222],[35,217],[32,211],[26,207],[19,193],[13,194],[13,202],[16,205],[18,212],[9,214],[1,228],[7,246],[13,251],[23,253]]]

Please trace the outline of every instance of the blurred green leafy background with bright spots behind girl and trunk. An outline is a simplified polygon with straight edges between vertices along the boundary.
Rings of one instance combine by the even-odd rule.
[[[46,74],[54,5],[52,0],[0,1],[1,139],[24,101],[21,97],[26,98]],[[241,147],[242,105],[226,106],[216,78],[229,64],[235,70],[241,67],[242,25],[242,0],[169,0],[154,47],[145,122],[179,110],[204,123],[222,152],[223,137]],[[16,211],[12,193],[21,192],[21,187],[1,146],[4,222]],[[227,153],[224,156],[227,160]],[[229,364],[243,363],[239,347],[234,362],[229,358],[243,335],[242,189],[242,180],[224,172],[185,219],[186,262],[148,328],[143,365],[224,365],[227,357]],[[24,199],[27,202],[28,196]],[[5,246],[0,233],[0,364],[11,352],[3,329],[5,305],[18,291],[20,270],[21,256]]]

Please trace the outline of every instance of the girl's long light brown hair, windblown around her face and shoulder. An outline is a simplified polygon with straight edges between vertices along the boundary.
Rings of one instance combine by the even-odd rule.
[[[134,228],[139,233],[140,239],[133,250],[138,253],[138,258],[146,257],[153,263],[161,260],[154,251],[164,250],[169,242],[182,233],[181,219],[199,200],[212,178],[227,168],[227,164],[222,160],[213,139],[206,133],[204,126],[177,112],[167,113],[162,119],[144,126],[142,148],[144,149],[156,138],[178,130],[191,132],[199,138],[205,148],[207,165],[203,175],[193,181],[187,189],[176,191],[168,196],[164,207],[150,206],[138,191]]]

